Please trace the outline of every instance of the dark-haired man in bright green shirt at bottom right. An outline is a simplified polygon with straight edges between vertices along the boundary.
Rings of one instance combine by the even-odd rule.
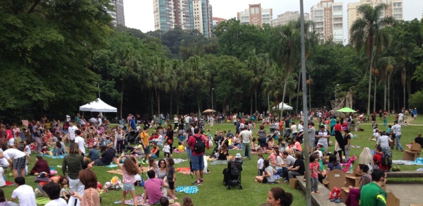
[[[387,192],[382,187],[387,182],[387,174],[380,169],[371,172],[372,182],[361,187],[360,203],[362,206],[387,205]]]

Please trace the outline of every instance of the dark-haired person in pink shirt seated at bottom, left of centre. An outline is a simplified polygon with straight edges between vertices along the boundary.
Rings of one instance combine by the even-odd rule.
[[[147,203],[147,198],[149,199],[150,205],[160,205],[160,198],[162,194],[162,186],[169,188],[169,185],[166,183],[167,177],[164,177],[164,180],[155,178],[154,170],[149,170],[147,172],[149,179],[144,183],[144,203]]]

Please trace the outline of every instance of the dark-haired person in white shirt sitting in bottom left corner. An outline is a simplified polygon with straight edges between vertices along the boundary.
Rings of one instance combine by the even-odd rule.
[[[8,202],[9,206],[19,206],[19,205],[36,205],[34,190],[30,185],[25,185],[25,178],[18,176],[14,179],[14,183],[17,185],[17,189],[14,189],[12,192],[12,197]],[[14,203],[15,199],[18,199],[19,204]]]

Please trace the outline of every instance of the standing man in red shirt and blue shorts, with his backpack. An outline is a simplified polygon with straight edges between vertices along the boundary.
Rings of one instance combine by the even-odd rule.
[[[191,156],[191,166],[192,170],[195,173],[197,181],[193,185],[201,185],[203,180],[203,170],[204,170],[204,151],[206,150],[206,138],[203,135],[200,135],[199,128],[194,129],[195,138],[189,138],[186,143],[187,146],[191,147],[193,152]]]

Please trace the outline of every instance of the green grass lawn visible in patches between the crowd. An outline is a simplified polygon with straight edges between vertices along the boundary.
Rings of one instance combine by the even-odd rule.
[[[389,124],[393,122],[394,116],[391,115],[389,117]],[[418,119],[417,119],[418,120]],[[415,120],[414,120],[415,121]],[[298,122],[298,121],[296,121]],[[415,122],[411,122],[415,123]],[[379,128],[382,130],[385,130],[382,124],[382,121],[378,121]],[[422,122],[423,124],[423,122]],[[358,135],[358,137],[355,137],[351,139],[351,145],[353,146],[360,146],[360,148],[351,148],[350,156],[356,155],[359,157],[360,152],[362,151],[362,148],[369,147],[371,149],[374,148],[376,145],[376,141],[369,141],[368,139],[371,137],[371,124],[361,124],[361,128],[364,128],[364,131],[362,132],[352,132],[354,135]],[[208,128],[208,126],[207,126]],[[235,130],[233,124],[227,123],[227,124],[216,124],[215,131],[217,128],[221,128],[221,130]],[[417,136],[417,133],[420,133],[422,126],[408,126],[408,128],[402,129],[402,138],[401,143],[404,148],[406,148],[406,144],[410,144],[413,142],[414,138]],[[268,130],[268,126],[266,126],[266,130]],[[214,132],[212,132],[214,133]],[[254,135],[255,137],[255,135]],[[335,141],[334,137],[331,137],[331,141]],[[177,143],[175,142],[177,145]],[[175,145],[174,144],[174,145]],[[213,148],[210,148],[208,150],[211,152]],[[333,152],[334,146],[329,147],[329,151]],[[240,150],[231,150],[230,155],[234,156],[237,152],[241,153]],[[402,158],[402,152],[395,151],[395,149],[392,151],[393,153],[393,159],[401,159]],[[32,155],[32,159],[34,161],[36,155]],[[162,152],[160,152],[160,156],[162,156]],[[268,155],[264,156],[265,158],[268,157]],[[180,153],[173,155],[173,158],[181,158],[186,159],[186,153]],[[50,166],[54,166],[56,170],[58,170],[58,174],[62,174],[61,168],[58,168],[57,165],[62,164],[62,159],[50,159],[46,157],[47,161],[49,162]],[[29,170],[32,168],[32,165],[28,165]],[[178,163],[175,165],[175,168],[186,168],[189,167],[188,161]],[[210,174],[206,174],[204,177],[204,183],[202,185],[199,185],[199,192],[197,194],[181,194],[177,193],[178,200],[177,202],[182,203],[182,198],[184,196],[191,196],[193,199],[193,202],[195,205],[239,205],[240,203],[243,205],[261,205],[261,203],[266,202],[268,191],[271,187],[282,187],[286,192],[291,192],[294,195],[294,203],[293,205],[305,205],[305,198],[303,194],[301,194],[300,190],[292,190],[290,189],[288,184],[277,184],[277,185],[265,185],[265,184],[259,184],[254,183],[254,176],[257,175],[257,155],[253,155],[252,160],[246,160],[243,163],[243,172],[241,173],[241,184],[243,185],[243,190],[239,190],[237,187],[232,188],[232,190],[226,190],[226,187],[222,184],[223,181],[223,174],[221,173],[224,168],[226,168],[226,165],[209,165],[208,166],[210,170]],[[416,170],[417,168],[423,168],[421,165],[400,165],[401,170]],[[108,173],[107,170],[116,170],[117,168],[107,168],[107,167],[95,167],[93,170],[96,172],[98,176],[98,181],[100,183],[104,184],[107,181],[110,181],[110,179],[117,175],[117,174],[111,174]],[[9,172],[9,171],[8,171]],[[145,174],[144,174],[145,175]],[[117,175],[122,179],[122,176]],[[34,176],[28,176],[25,178],[28,185],[31,185],[32,187],[36,187],[36,183],[34,183]],[[8,181],[13,181],[12,177],[7,177]],[[177,181],[175,183],[175,186],[188,186],[191,185],[195,181],[194,179],[191,179],[191,176],[184,175],[184,174],[177,174]],[[422,181],[422,179],[391,179],[390,181]],[[14,186],[7,186],[3,187],[3,190],[6,194],[6,198],[10,198],[12,194],[12,190],[14,190],[16,187]],[[142,194],[144,192],[144,189],[142,187],[136,187],[136,193]],[[113,203],[115,201],[120,201],[122,198],[122,191],[111,191],[107,192],[105,194],[101,195],[102,197],[102,205],[114,205]],[[248,201],[245,199],[248,198]],[[127,199],[129,199],[129,196],[127,196]]]

